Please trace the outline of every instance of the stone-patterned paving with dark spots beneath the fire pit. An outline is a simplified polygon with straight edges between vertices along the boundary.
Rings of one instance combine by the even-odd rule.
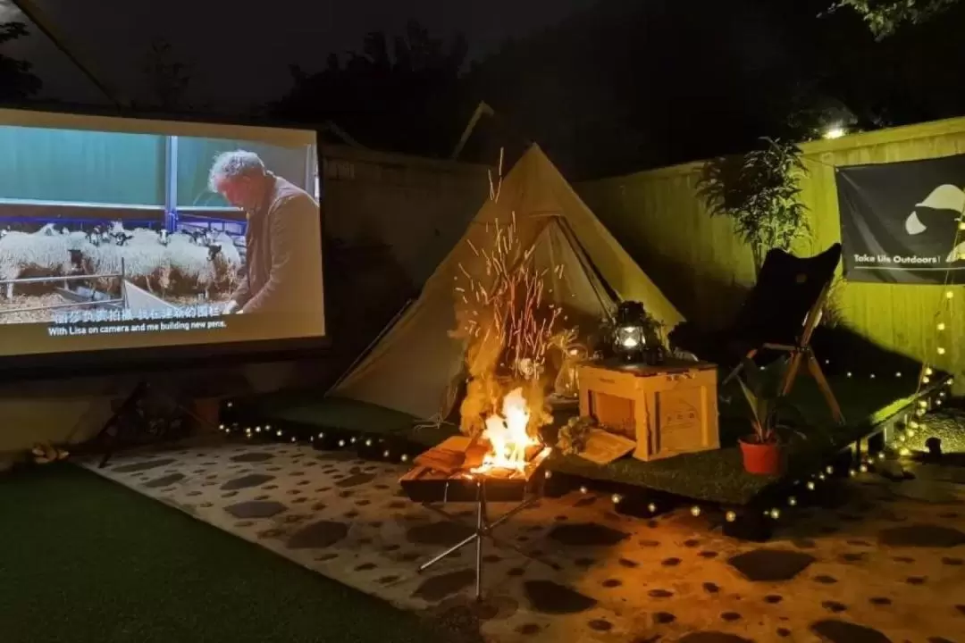
[[[461,640],[965,643],[965,479],[942,468],[841,481],[839,506],[801,509],[766,545],[685,510],[648,521],[614,513],[608,496],[544,498],[496,534],[550,565],[487,545],[479,604],[474,549],[417,573],[469,529],[402,496],[404,467],[226,443],[89,468]]]

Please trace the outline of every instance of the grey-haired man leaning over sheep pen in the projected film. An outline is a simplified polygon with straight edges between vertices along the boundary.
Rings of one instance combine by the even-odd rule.
[[[241,284],[226,313],[283,312],[311,307],[310,284],[319,248],[318,203],[307,192],[265,169],[243,149],[214,159],[208,187],[248,216]]]

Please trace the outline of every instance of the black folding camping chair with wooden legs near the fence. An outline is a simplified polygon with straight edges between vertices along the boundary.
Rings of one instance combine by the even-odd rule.
[[[839,424],[844,423],[838,399],[811,348],[811,337],[821,321],[840,261],[840,243],[820,255],[805,258],[777,249],[767,253],[758,282],[737,313],[730,334],[731,351],[742,359],[724,379],[721,388],[737,377],[745,361],[753,361],[765,351],[786,354],[787,365],[779,394],[790,393],[804,362],[821,389],[831,415]]]

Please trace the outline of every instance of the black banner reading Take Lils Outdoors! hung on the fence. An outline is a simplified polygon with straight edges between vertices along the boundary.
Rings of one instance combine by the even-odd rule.
[[[835,181],[849,281],[965,283],[965,154],[837,168]]]

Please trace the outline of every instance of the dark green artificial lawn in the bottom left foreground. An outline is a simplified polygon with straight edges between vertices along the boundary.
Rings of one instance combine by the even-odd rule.
[[[0,478],[3,643],[430,643],[402,612],[95,473]]]

